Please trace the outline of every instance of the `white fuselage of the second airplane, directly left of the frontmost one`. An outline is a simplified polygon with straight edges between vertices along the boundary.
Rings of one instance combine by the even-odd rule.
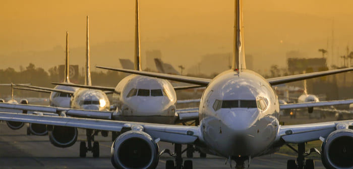
[[[118,120],[124,121],[172,124],[176,101],[167,80],[140,75],[125,77],[113,94]]]

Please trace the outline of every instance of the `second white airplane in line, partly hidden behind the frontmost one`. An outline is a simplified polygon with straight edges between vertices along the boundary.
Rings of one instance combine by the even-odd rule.
[[[135,16],[134,69],[136,71],[141,71],[138,3],[136,3]],[[194,108],[180,110],[176,109],[175,104],[177,103],[177,95],[175,94],[175,90],[201,87],[199,85],[173,87],[167,80],[140,75],[129,75],[125,77],[116,85],[116,87],[63,83],[52,84],[100,89],[103,91],[113,92],[112,104],[116,107],[114,113],[115,120],[159,124],[175,124],[180,121],[198,120],[198,112]],[[188,101],[194,102],[194,100]]]

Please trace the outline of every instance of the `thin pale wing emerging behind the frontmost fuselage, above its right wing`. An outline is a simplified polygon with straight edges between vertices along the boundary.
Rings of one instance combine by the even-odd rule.
[[[320,107],[320,106],[330,106],[330,105],[350,104],[350,103],[353,103],[353,99],[348,99],[348,100],[334,100],[334,101],[320,101],[320,102],[305,102],[305,103],[281,104],[281,105],[279,105],[279,109]]]

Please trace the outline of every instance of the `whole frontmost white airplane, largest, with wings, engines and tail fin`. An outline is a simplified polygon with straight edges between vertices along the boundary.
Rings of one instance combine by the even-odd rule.
[[[148,124],[72,117],[37,116],[0,112],[0,120],[77,127],[122,132],[111,147],[115,168],[155,168],[159,159],[158,142],[175,145],[175,161],[167,160],[166,168],[193,168],[191,160],[183,164],[182,144],[194,144],[203,152],[227,159],[236,168],[245,161],[271,154],[279,147],[298,144],[297,160],[288,160],[287,168],[314,168],[314,160],[305,157],[317,150],[305,151],[305,143],[321,140],[322,162],[327,168],[353,168],[353,120],[303,125],[279,125],[279,110],[333,104],[350,104],[353,99],[280,105],[271,85],[299,81],[352,71],[353,68],[265,79],[247,70],[242,39],[242,1],[236,0],[234,14],[234,52],[231,70],[214,79],[165,75],[135,70],[122,70],[175,81],[207,86],[199,106],[199,126]],[[236,64],[238,63],[238,65]],[[36,109],[33,105],[1,103],[0,107]],[[84,111],[84,110],[82,110]],[[169,151],[164,150],[161,153]],[[319,151],[317,151],[319,152]]]

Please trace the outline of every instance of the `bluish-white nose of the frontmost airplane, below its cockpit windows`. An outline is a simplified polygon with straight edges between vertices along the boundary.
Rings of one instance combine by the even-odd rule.
[[[258,120],[257,108],[233,108],[221,112],[220,119],[224,125],[234,131],[243,131],[252,127]]]

